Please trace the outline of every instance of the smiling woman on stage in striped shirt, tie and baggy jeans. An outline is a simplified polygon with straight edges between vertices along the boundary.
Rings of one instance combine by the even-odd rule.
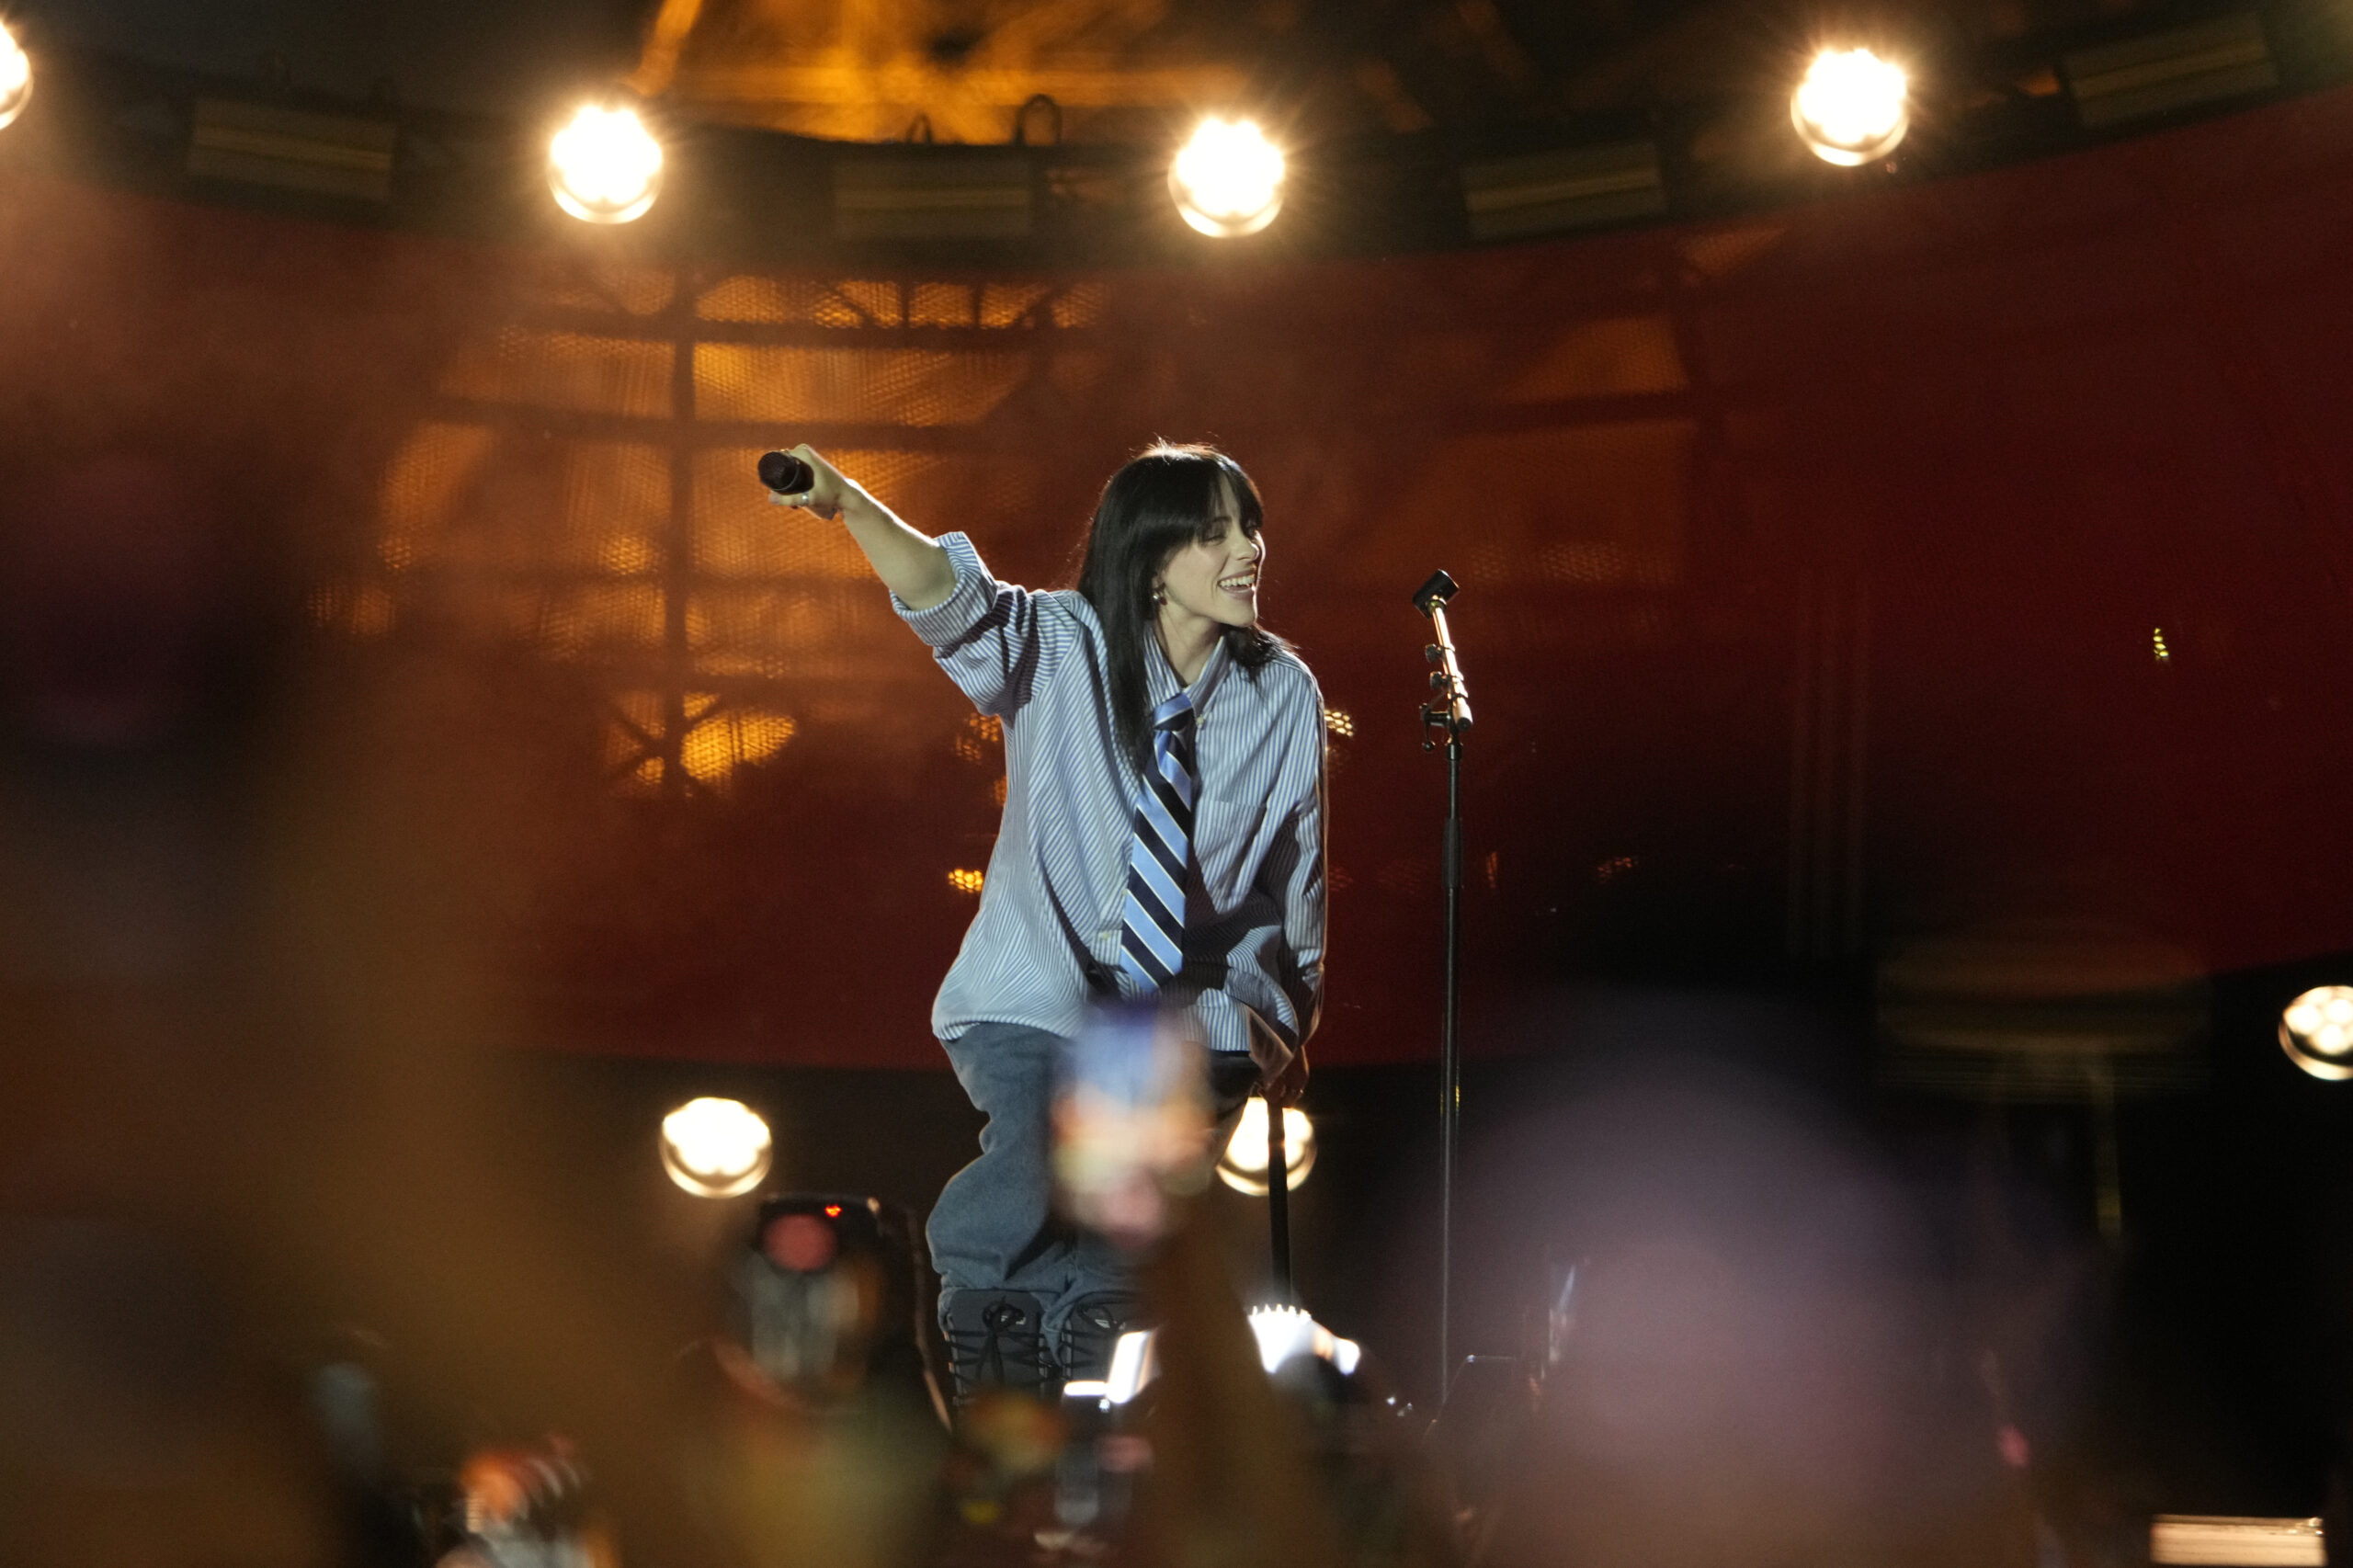
[[[932,1010],[981,1156],[932,1210],[958,1398],[1101,1377],[1136,1314],[1120,1255],[1052,1215],[1056,1057],[1089,1003],[1191,1010],[1221,1107],[1306,1085],[1322,1008],[1322,697],[1259,626],[1259,492],[1155,445],[1104,485],[1078,589],[998,582],[809,447],[788,504],[840,518],[892,605],[1005,723],[1005,819]]]

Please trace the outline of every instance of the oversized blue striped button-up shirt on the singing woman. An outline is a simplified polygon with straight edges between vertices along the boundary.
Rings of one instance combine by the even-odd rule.
[[[1136,770],[1111,723],[1104,629],[1080,593],[998,582],[965,534],[939,542],[955,589],[899,614],[981,713],[1005,723],[1005,822],[981,911],[932,1008],[953,1041],[972,1024],[1078,1031],[1087,1003],[1120,996],[1120,911]],[[1151,702],[1176,695],[1158,643]],[[1322,1008],[1322,695],[1278,652],[1235,669],[1224,643],[1188,687],[1200,765],[1186,961],[1167,986],[1193,1005],[1212,1050],[1280,1062]],[[1264,1029],[1254,1029],[1264,1024]]]

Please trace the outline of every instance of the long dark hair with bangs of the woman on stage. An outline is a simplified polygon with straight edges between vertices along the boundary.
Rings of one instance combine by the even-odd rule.
[[[1245,532],[1259,532],[1266,516],[1259,487],[1242,473],[1242,464],[1217,447],[1155,443],[1113,473],[1104,499],[1094,504],[1078,591],[1104,626],[1111,723],[1136,772],[1151,765],[1153,753],[1153,699],[1144,678],[1160,619],[1153,584],[1169,556],[1209,537],[1219,478],[1233,483],[1235,520]],[[1226,657],[1249,671],[1252,680],[1285,647],[1282,638],[1257,626],[1226,626],[1224,638]]]

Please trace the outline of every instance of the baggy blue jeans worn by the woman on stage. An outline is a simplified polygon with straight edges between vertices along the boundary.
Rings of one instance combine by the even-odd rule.
[[[1134,1290],[1118,1248],[1054,1212],[1054,1074],[1066,1045],[1028,1024],[974,1024],[948,1041],[955,1081],[988,1125],[981,1158],[948,1180],[925,1227],[941,1318],[958,1290],[1026,1290],[1042,1304],[1040,1328],[1052,1344],[1085,1297]],[[1212,1057],[1219,1121],[1240,1109],[1254,1083],[1249,1057]]]

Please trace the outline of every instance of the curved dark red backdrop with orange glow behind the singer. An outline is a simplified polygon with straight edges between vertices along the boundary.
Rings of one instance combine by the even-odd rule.
[[[1257,476],[1268,619],[1346,716],[1325,1062],[1431,1052],[1407,593],[1440,565],[1487,1045],[1553,977],[2021,918],[2259,965],[2353,949],[2348,191],[2348,92],[1727,224],[1106,275],[675,268],[12,174],[12,511],[73,534],[61,461],[202,447],[296,546],[306,657],[496,671],[419,735],[529,779],[454,831],[525,845],[480,899],[541,1043],[936,1062],[995,742],[765,506],[751,454],[795,438],[1031,582],[1146,438]]]

